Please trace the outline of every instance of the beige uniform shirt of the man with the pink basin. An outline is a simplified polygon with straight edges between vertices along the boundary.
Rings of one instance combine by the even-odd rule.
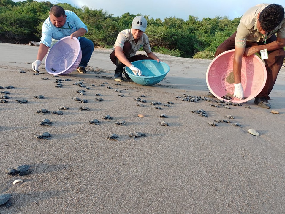
[[[277,33],[278,38],[285,38],[285,17],[273,31],[268,32],[265,37],[257,29],[257,15],[269,4],[257,4],[251,7],[240,19],[237,34],[235,37],[235,46],[244,48],[246,41],[249,42],[264,42]]]

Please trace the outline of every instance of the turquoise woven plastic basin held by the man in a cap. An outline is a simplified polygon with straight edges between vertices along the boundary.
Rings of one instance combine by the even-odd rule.
[[[157,62],[156,60],[138,60],[132,62],[132,64],[142,71],[142,75],[134,75],[129,67],[125,67],[125,71],[132,81],[143,86],[151,86],[159,83],[170,70],[170,67],[166,63]]]

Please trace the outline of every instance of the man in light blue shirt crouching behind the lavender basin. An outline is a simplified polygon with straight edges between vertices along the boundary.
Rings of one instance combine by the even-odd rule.
[[[76,37],[80,42],[82,58],[77,71],[86,73],[91,55],[94,51],[94,44],[91,40],[82,37],[87,32],[87,26],[78,18],[78,16],[69,10],[64,10],[60,6],[53,6],[50,9],[50,16],[42,24],[42,37],[37,54],[37,60],[32,63],[32,68],[37,71],[42,63],[42,59],[47,54],[49,48],[63,37]]]

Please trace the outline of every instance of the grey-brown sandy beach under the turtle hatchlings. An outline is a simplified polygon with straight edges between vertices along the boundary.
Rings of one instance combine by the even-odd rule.
[[[285,67],[270,94],[271,109],[254,100],[227,109],[209,106],[217,99],[182,100],[207,95],[210,60],[156,54],[170,66],[159,84],[116,85],[110,49],[95,48],[88,73],[54,77],[44,60],[34,75],[38,47],[0,43],[0,48],[0,91],[11,97],[0,103],[0,194],[12,195],[12,205],[0,206],[0,213],[285,213]],[[57,79],[62,88],[55,87]],[[10,85],[15,88],[6,88]],[[34,97],[39,95],[44,99]],[[134,100],[141,95],[146,103]],[[164,106],[168,102],[173,104]],[[51,113],[60,106],[69,109]],[[82,106],[89,111],[80,111]],[[40,109],[50,113],[36,113]],[[208,116],[192,112],[199,109]],[[39,125],[43,119],[53,124]],[[89,123],[94,119],[100,124]],[[225,119],[231,123],[209,125]],[[116,125],[123,120],[125,126]],[[251,128],[260,136],[248,133]],[[44,132],[50,140],[35,137]],[[145,136],[134,139],[133,132]],[[118,140],[107,138],[113,133]],[[31,165],[31,174],[7,175],[7,168],[23,164]],[[16,179],[23,183],[13,185]]]

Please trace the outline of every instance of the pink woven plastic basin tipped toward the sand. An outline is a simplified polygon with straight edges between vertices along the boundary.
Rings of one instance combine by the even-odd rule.
[[[233,59],[235,50],[225,51],[216,56],[210,63],[207,73],[207,86],[212,94],[227,101],[223,97],[228,96],[230,101],[235,103],[243,103],[256,97],[263,89],[267,73],[262,60],[257,55],[243,57],[241,68],[241,84],[244,91],[244,99],[239,100],[233,97],[234,75],[233,75]]]

